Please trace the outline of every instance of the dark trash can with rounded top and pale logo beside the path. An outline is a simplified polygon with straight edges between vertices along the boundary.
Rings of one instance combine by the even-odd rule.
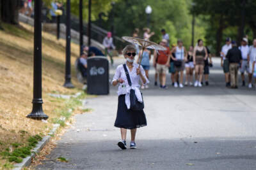
[[[87,93],[109,94],[109,62],[106,57],[87,59]]]

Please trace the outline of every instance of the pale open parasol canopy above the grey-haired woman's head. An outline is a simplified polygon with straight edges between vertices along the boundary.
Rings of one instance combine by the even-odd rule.
[[[157,43],[154,43],[152,41],[148,41],[145,39],[134,38],[129,36],[123,36],[122,39],[124,39],[125,41],[128,41],[129,43],[140,45],[142,46],[142,48],[150,48],[154,50],[166,50],[164,46],[158,45]]]

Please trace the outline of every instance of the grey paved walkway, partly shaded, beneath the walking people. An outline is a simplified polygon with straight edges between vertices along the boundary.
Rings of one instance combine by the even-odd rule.
[[[116,88],[88,99],[93,113],[77,115],[74,128],[36,169],[255,169],[256,91],[226,89],[219,66],[214,59],[210,86],[202,88],[159,89],[150,70],[151,88],[143,91],[148,126],[138,129],[138,150],[116,146]]]

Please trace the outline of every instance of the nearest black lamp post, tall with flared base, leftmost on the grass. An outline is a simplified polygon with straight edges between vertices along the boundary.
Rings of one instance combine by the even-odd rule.
[[[33,109],[27,116],[33,119],[47,119],[42,104],[42,24],[41,24],[42,1],[35,1],[34,20],[34,80],[33,80]]]

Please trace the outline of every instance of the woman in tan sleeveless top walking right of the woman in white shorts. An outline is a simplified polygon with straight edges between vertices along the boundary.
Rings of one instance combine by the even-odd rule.
[[[204,62],[207,60],[208,54],[202,39],[198,39],[197,46],[193,53],[193,62],[195,65],[195,87],[202,87],[202,78],[204,73]]]

